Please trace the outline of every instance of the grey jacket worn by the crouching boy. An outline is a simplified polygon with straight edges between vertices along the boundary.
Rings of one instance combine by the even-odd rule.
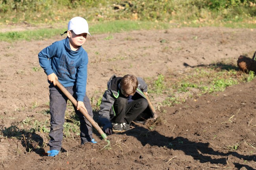
[[[108,90],[106,90],[103,94],[102,101],[100,104],[100,112],[99,112],[99,119],[98,122],[100,125],[103,126],[103,131],[107,128],[112,129],[111,119],[115,117],[115,111],[113,110],[113,104],[115,100],[119,97],[119,83],[121,81],[122,77],[116,77],[113,75],[108,80]],[[145,99],[145,95],[143,92],[148,91],[148,86],[146,82],[141,78],[137,77],[137,80],[139,82],[139,85],[137,87],[136,93],[143,96]]]

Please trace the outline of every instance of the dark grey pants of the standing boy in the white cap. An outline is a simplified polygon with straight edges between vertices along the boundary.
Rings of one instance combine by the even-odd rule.
[[[65,122],[65,111],[67,108],[67,97],[56,87],[49,86],[50,88],[50,150],[60,150],[62,146],[63,140],[63,124]],[[75,98],[76,97],[76,88],[75,87],[67,87],[66,88],[69,93]],[[83,99],[83,103],[85,108],[87,109],[89,115],[93,117],[93,110],[91,108],[91,104],[87,95],[85,95]],[[80,137],[82,143],[90,142],[93,138],[93,131],[91,123],[83,116],[81,112],[76,110],[74,106],[74,110],[79,117],[80,121]]]

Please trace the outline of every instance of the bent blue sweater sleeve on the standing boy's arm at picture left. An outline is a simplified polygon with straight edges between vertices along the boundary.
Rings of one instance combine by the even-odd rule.
[[[56,54],[56,50],[57,44],[53,43],[38,54],[39,64],[45,70],[46,75],[54,73],[49,58],[52,58]]]

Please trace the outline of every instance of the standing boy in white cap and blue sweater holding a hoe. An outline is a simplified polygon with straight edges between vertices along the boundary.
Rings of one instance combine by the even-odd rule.
[[[50,90],[50,151],[48,156],[58,155],[63,140],[63,124],[67,97],[57,88],[56,79],[77,100],[76,114],[80,120],[81,144],[96,143],[92,137],[92,125],[78,110],[87,110],[93,117],[89,98],[86,95],[87,52],[82,48],[89,33],[87,21],[79,16],[72,18],[68,24],[67,38],[54,42],[39,54],[39,64],[45,70]],[[91,36],[91,35],[90,35]]]

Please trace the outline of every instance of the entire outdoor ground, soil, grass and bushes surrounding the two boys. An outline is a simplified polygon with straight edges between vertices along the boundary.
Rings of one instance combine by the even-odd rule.
[[[255,170],[254,73],[236,65],[255,51],[254,1],[58,2],[1,2],[0,169]],[[49,92],[37,54],[77,15],[93,35],[83,48],[95,121],[109,77],[128,73],[148,83],[160,117],[109,135],[100,151],[96,130],[98,143],[80,146],[69,102],[63,150],[46,157]]]

